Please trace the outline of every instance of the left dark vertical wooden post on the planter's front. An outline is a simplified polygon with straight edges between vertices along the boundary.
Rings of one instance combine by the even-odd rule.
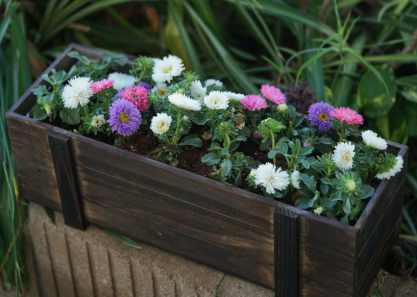
[[[84,230],[86,222],[80,208],[71,139],[69,136],[51,130],[48,133],[48,141],[65,225]]]

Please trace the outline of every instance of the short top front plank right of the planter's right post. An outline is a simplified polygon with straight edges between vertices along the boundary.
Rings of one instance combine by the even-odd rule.
[[[358,228],[314,213],[300,216],[300,241],[354,259]]]

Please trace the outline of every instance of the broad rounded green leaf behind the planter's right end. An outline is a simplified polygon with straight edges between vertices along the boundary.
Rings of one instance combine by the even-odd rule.
[[[378,118],[388,114],[394,106],[397,85],[394,70],[387,65],[376,67],[386,82],[385,87],[371,72],[365,73],[359,82],[357,102],[370,118]],[[388,90],[389,94],[385,92]]]

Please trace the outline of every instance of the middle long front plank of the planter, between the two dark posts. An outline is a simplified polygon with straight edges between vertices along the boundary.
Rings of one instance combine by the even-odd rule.
[[[274,264],[269,230],[88,168],[77,171],[83,197]]]

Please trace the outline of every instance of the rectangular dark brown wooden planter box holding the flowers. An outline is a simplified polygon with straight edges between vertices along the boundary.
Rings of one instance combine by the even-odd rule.
[[[71,44],[45,73],[68,71],[70,50],[101,55]],[[387,141],[404,167],[350,226],[31,119],[35,100],[28,90],[6,114],[22,195],[75,228],[108,228],[277,297],[364,296],[399,233],[407,146]]]

